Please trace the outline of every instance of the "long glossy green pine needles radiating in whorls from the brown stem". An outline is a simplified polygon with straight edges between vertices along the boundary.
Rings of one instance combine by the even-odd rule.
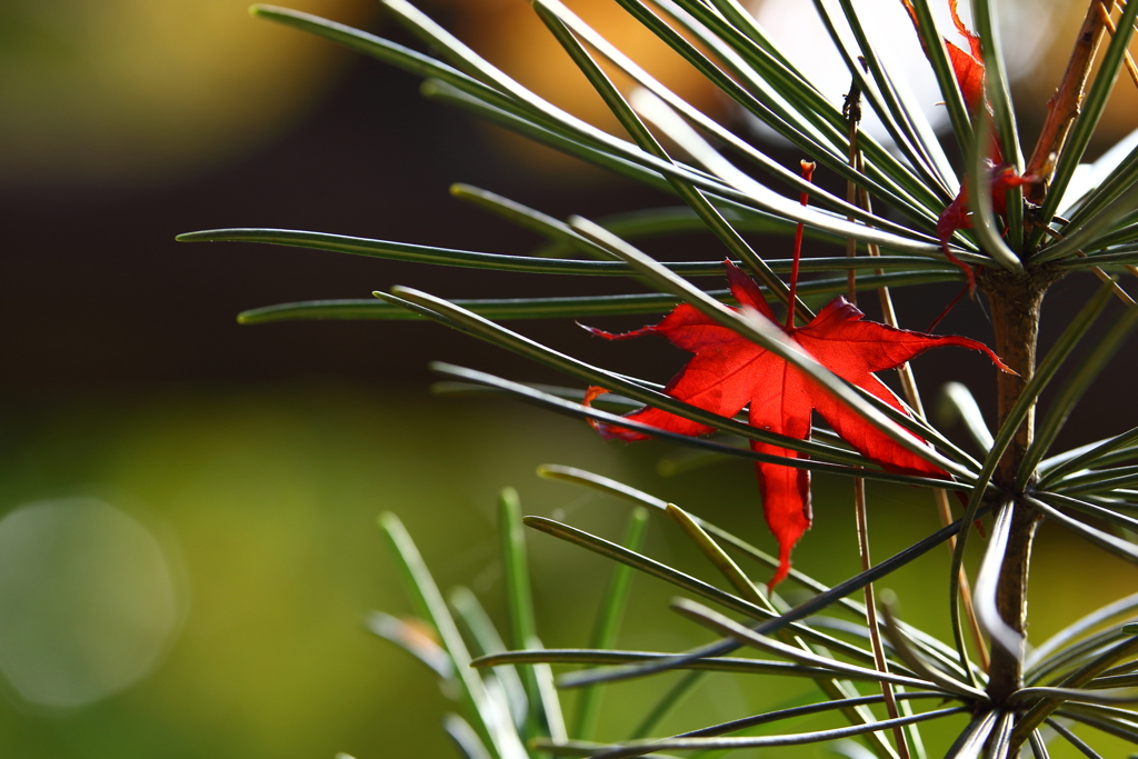
[[[777,560],[731,533],[621,482],[571,468],[544,465],[539,470],[543,477],[603,492],[629,502],[633,510],[624,538],[612,542],[553,519],[522,517],[517,494],[503,492],[498,514],[509,610],[504,634],[498,633],[469,591],[459,588],[444,597],[398,519],[385,514],[380,523],[421,625],[377,613],[371,628],[422,660],[447,684],[446,691],[455,699],[455,712],[446,716],[444,725],[460,754],[468,759],[553,754],[616,759],[674,752],[719,756],[739,749],[824,742],[844,746],[856,741],[859,751],[881,759],[1045,759],[1048,745],[1059,743],[1087,757],[1099,756],[1091,745],[1094,740],[1088,744],[1072,732],[1073,726],[1079,726],[1080,732],[1092,728],[1138,743],[1138,712],[1129,708],[1138,703],[1138,622],[1131,621],[1138,619],[1138,597],[1121,599],[1075,620],[1030,650],[1023,635],[1024,621],[1015,613],[1008,614],[1006,601],[1025,593],[1030,538],[1041,520],[1138,562],[1138,545],[1131,539],[1138,533],[1138,428],[1073,451],[1056,451],[1054,445],[1082,395],[1110,366],[1138,324],[1138,307],[1107,273],[1138,273],[1133,269],[1138,264],[1138,149],[1108,154],[1103,159],[1106,163],[1095,166],[1097,184],[1080,191],[1080,197],[1067,197],[1074,170],[1083,162],[1107,98],[1127,65],[1138,2],[1120,3],[1118,11],[1103,3],[1104,10],[1116,14],[1116,31],[1105,35],[1102,61],[1089,80],[1070,133],[1056,143],[1041,196],[1025,198],[1021,188],[1013,188],[1007,191],[1004,213],[996,213],[992,172],[986,166],[993,135],[1012,171],[1022,174],[1029,166],[1021,151],[1000,57],[997,8],[990,0],[973,2],[990,107],[972,114],[930,7],[937,0],[912,3],[948,108],[953,139],[965,156],[964,164],[955,167],[921,109],[884,68],[851,0],[816,0],[814,6],[846,60],[864,107],[872,109],[888,130],[896,145],[892,150],[861,133],[840,104],[827,101],[737,0],[616,0],[737,108],[764,122],[822,168],[843,178],[852,190],[847,196],[855,198],[852,201],[809,184],[797,171],[766,155],[761,146],[685,102],[560,0],[535,0],[534,10],[611,108],[627,133],[625,138],[603,132],[527,90],[406,0],[381,1],[390,17],[430,52],[287,9],[257,6],[253,13],[407,71],[423,79],[423,93],[429,98],[669,192],[682,205],[597,222],[560,220],[478,188],[453,188],[456,197],[542,234],[547,242],[530,256],[273,229],[212,230],[180,239],[298,246],[438,266],[617,277],[648,282],[657,291],[445,300],[396,287],[390,292],[376,292],[376,299],[369,300],[314,300],[257,308],[241,314],[244,323],[432,320],[558,370],[572,385],[525,385],[435,364],[444,380],[438,386],[440,393],[500,395],[616,424],[622,422],[620,412],[649,404],[717,431],[706,438],[661,431],[661,439],[691,449],[686,457],[673,460],[676,467],[718,457],[761,460],[745,445],[759,440],[809,456],[783,460],[790,465],[856,481],[907,484],[938,493],[945,504],[946,492],[963,494],[967,503],[958,519],[946,520],[941,529],[896,555],[875,563],[866,556],[864,571],[838,585],[827,586],[799,569],[792,570],[786,587],[793,591],[794,599],[805,600],[791,604],[751,579],[776,567]],[[1099,3],[1091,1],[1091,13]],[[1097,33],[1103,33],[1102,26]],[[635,86],[621,91],[607,76],[601,60],[622,71]],[[955,230],[942,246],[938,220],[953,204],[962,181],[968,190],[971,229]],[[790,188],[791,195],[781,195],[770,185]],[[797,193],[801,190],[810,191],[811,207],[799,204]],[[869,198],[877,211],[872,209]],[[725,307],[734,303],[726,290],[704,290],[693,284],[690,278],[721,272],[721,249],[710,251],[706,259],[662,263],[635,247],[645,237],[710,231],[729,257],[754,277],[768,298],[793,308],[800,317],[809,317],[806,303],[791,300],[785,279],[791,261],[765,258],[747,240],[754,233],[791,236],[799,223],[808,236],[832,248],[827,256],[802,262],[803,271],[828,275],[803,283],[798,288],[800,296],[846,292],[850,272],[857,289],[883,292],[888,298],[888,288],[964,283],[965,271],[951,258],[983,267],[986,275],[980,283],[993,306],[1001,343],[997,349],[1030,358],[1019,366],[1022,377],[1017,382],[1001,380],[1000,419],[991,431],[967,388],[947,388],[943,403],[986,452],[982,459],[954,445],[935,428],[923,412],[912,376],[906,380],[904,370],[902,386],[912,415],[897,413],[859,393],[810,355],[787,345],[778,330],[762,320]],[[857,255],[851,259],[843,255],[843,248]],[[1050,282],[1075,271],[1096,273],[1104,284],[1063,333],[1044,346],[1041,357],[1034,362],[1033,330],[1039,319],[1036,306]],[[584,286],[582,289],[587,291]],[[1107,317],[1105,314],[1116,313],[1108,308],[1116,299],[1127,305]],[[752,428],[744,420],[720,416],[671,397],[645,379],[566,355],[503,324],[519,319],[658,314],[678,303],[692,305],[782,356],[897,444],[950,472],[951,479],[887,471],[850,449],[825,427],[816,428],[808,440]],[[1008,304],[1020,307],[1026,316],[1016,316],[1019,322],[1005,316],[1000,322],[1000,314],[1011,311]],[[1077,361],[1072,360],[1074,355]],[[610,394],[595,406],[587,404],[584,387],[588,385],[609,388]],[[1036,420],[1037,402],[1048,388],[1049,402]],[[918,443],[910,432],[929,445]],[[859,508],[864,510],[864,502]],[[971,578],[970,594],[963,559],[966,545],[979,539],[970,528],[989,515],[992,519],[988,521],[983,558]],[[731,589],[720,589],[643,553],[649,520],[661,520],[682,530]],[[527,528],[613,562],[588,647],[550,650],[542,645],[531,599],[531,593],[541,589],[530,585]],[[875,599],[873,583],[950,543],[955,544],[954,558],[942,587],[954,635],[950,641],[940,641],[899,620],[891,604]],[[613,649],[636,574],[673,585],[679,596],[674,610],[715,633],[716,642],[679,652]],[[971,602],[963,602],[966,599]],[[819,614],[823,611],[825,614]],[[970,633],[973,627],[975,637]],[[555,678],[554,666],[569,669]],[[640,725],[628,726],[627,740],[593,742],[608,683],[671,670],[687,674],[661,693]],[[659,734],[662,717],[708,671],[732,673],[741,678],[806,678],[816,685],[816,700],[807,706],[741,716],[682,735]],[[571,711],[561,704],[560,694],[566,690],[579,691]],[[806,733],[780,728],[783,720],[824,712],[840,716],[842,726]],[[921,737],[923,724],[959,715],[966,716],[966,727],[954,743],[925,745]],[[752,729],[760,726],[759,731]]]

